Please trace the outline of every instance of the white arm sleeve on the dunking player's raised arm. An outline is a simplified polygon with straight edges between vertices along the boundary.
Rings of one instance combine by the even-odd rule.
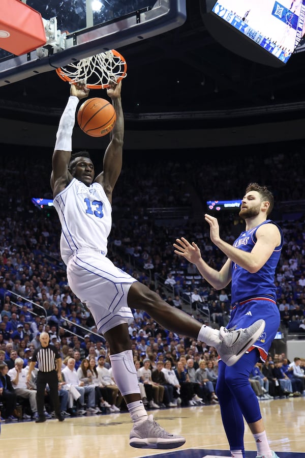
[[[72,132],[75,123],[75,111],[79,99],[75,96],[70,96],[66,108],[59,121],[59,126],[56,134],[55,150],[72,151]]]

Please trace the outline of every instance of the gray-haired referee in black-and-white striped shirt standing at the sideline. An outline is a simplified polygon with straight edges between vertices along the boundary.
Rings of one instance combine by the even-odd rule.
[[[50,398],[55,411],[55,416],[59,421],[64,421],[64,417],[60,413],[58,381],[62,380],[62,358],[60,358],[58,350],[54,345],[50,345],[50,336],[47,332],[42,332],[39,336],[40,347],[37,348],[29,363],[27,381],[31,379],[32,370],[38,365],[38,374],[36,379],[37,394],[37,412],[38,418],[36,423],[46,421],[44,416],[44,397],[46,385],[50,388]]]

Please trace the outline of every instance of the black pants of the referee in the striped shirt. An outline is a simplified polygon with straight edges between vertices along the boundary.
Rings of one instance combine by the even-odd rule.
[[[54,407],[54,412],[56,416],[60,416],[60,404],[59,404],[59,395],[58,395],[58,377],[57,371],[51,370],[51,372],[42,372],[38,371],[36,379],[36,402],[37,402],[37,413],[40,417],[44,417],[44,400],[45,400],[45,389],[46,385],[49,385],[50,389],[50,399]]]

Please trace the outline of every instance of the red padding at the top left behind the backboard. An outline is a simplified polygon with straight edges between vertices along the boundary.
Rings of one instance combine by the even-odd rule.
[[[47,42],[41,14],[20,0],[0,0],[0,48],[21,55]]]

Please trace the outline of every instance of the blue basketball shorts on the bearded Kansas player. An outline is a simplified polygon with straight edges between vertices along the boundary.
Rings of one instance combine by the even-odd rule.
[[[248,328],[260,319],[265,320],[265,329],[249,351],[257,348],[261,360],[265,361],[281,322],[278,306],[273,299],[252,298],[240,301],[237,305],[235,302],[227,329],[235,325],[237,329]]]

